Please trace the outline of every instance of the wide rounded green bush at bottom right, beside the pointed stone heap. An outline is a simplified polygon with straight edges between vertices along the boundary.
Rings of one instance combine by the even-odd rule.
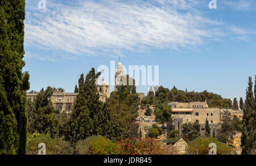
[[[232,147],[227,144],[218,142],[215,138],[201,137],[193,140],[188,144],[187,154],[188,155],[208,155],[210,148],[208,147],[210,143],[216,143],[217,155],[230,155],[232,154]]]

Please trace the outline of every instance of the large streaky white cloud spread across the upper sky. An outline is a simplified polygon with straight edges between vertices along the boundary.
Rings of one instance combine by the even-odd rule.
[[[194,0],[46,2],[47,9],[27,2],[27,46],[115,57],[138,45],[188,48],[225,34],[223,23],[203,16]]]

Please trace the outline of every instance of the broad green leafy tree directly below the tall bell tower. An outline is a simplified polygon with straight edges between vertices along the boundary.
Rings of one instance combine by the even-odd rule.
[[[136,93],[135,80],[125,77],[126,85],[117,86],[118,91],[112,92],[108,99],[108,110],[121,129],[121,138],[132,138],[138,136],[138,124],[135,123],[138,117],[139,97]],[[133,81],[133,85],[129,85]]]

